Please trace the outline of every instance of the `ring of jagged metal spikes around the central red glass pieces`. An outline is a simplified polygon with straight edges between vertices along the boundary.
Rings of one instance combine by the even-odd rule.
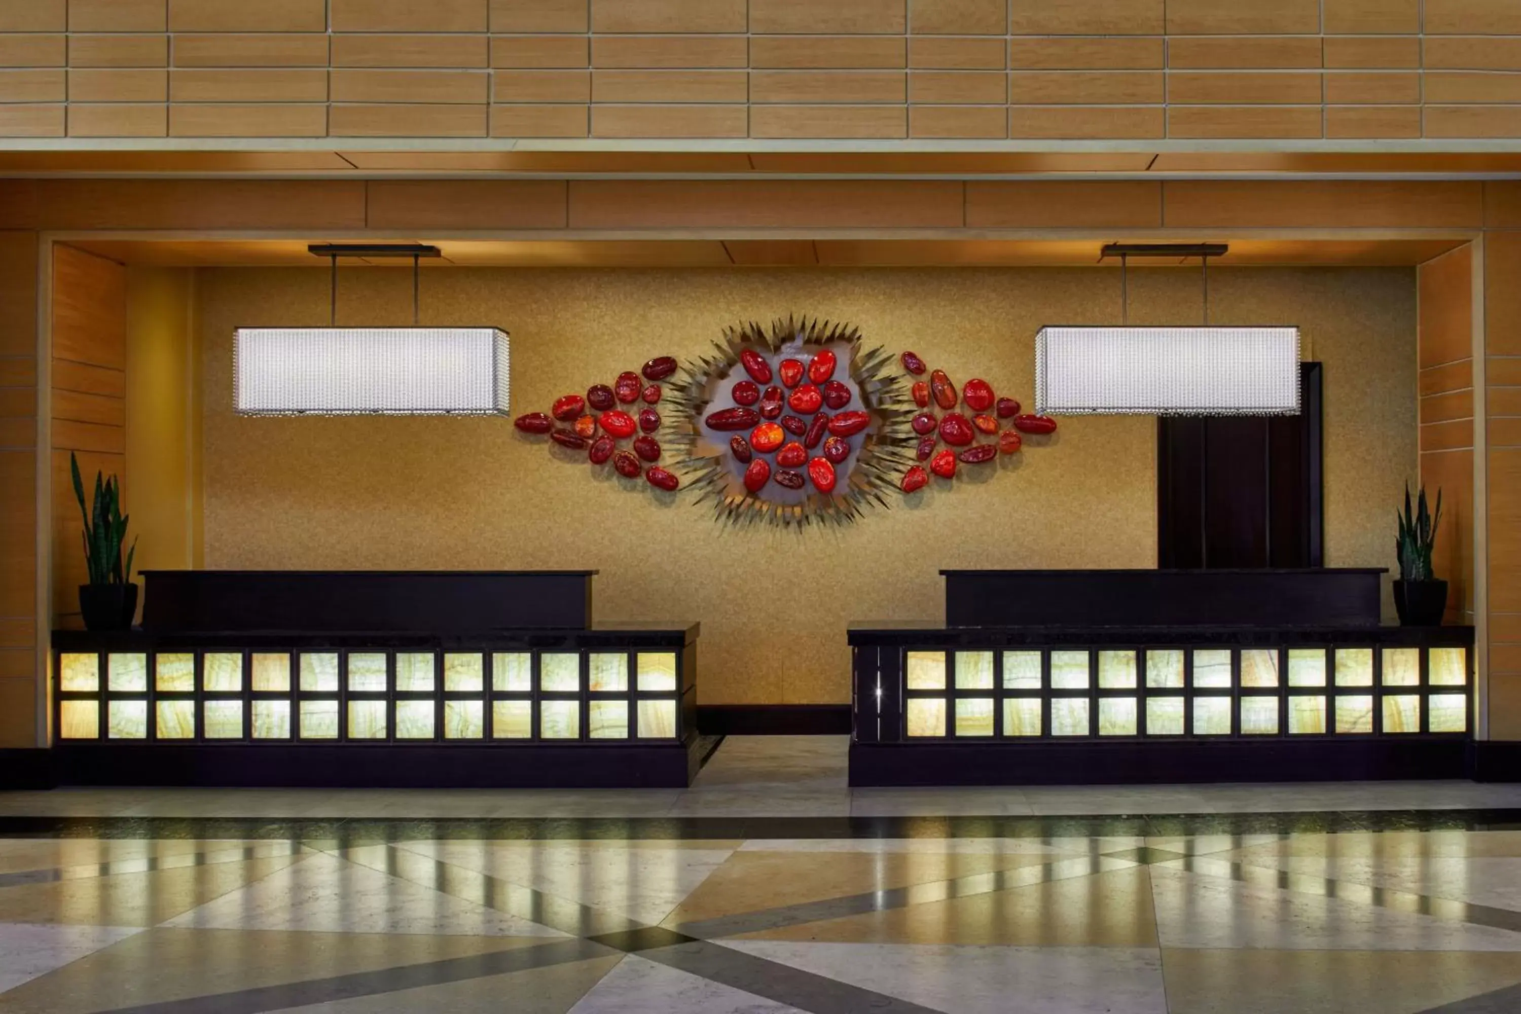
[[[712,436],[704,432],[703,418],[713,403],[721,383],[736,377],[741,353],[760,353],[768,360],[785,348],[815,348],[843,345],[849,356],[840,365],[859,391],[861,404],[852,406],[872,415],[872,423],[853,453],[852,467],[830,493],[817,488],[797,502],[777,502],[751,493],[738,480],[726,448],[712,452]],[[867,508],[888,506],[885,493],[897,486],[896,476],[913,464],[914,436],[908,427],[913,403],[903,391],[902,379],[891,372],[893,354],[882,348],[865,350],[861,331],[849,324],[834,324],[817,318],[773,321],[762,327],[751,321],[724,330],[713,342],[710,354],[689,362],[671,379],[671,403],[684,423],[668,438],[672,450],[686,456],[677,464],[684,485],[697,491],[697,502],[710,502],[719,521],[748,524],[779,524],[803,529],[811,524],[849,524]]]

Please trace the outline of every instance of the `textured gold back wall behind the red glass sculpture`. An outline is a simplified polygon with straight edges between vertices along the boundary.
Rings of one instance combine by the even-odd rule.
[[[231,414],[237,325],[329,318],[325,271],[199,278],[208,567],[595,567],[601,619],[701,620],[704,702],[849,699],[844,626],[941,619],[941,567],[1150,567],[1148,418],[1065,420],[951,491],[841,532],[727,531],[706,506],[621,490],[581,455],[505,420],[245,420]],[[351,269],[341,324],[411,321],[411,277]],[[1326,562],[1387,566],[1389,509],[1416,470],[1415,274],[1211,275],[1214,322],[1288,322],[1326,363]],[[513,333],[513,409],[692,356],[741,318],[818,313],[913,348],[957,380],[1033,398],[1042,324],[1112,322],[1101,269],[508,271],[423,277],[424,324]],[[1194,324],[1197,271],[1133,271],[1130,321]],[[1031,441],[1033,442],[1033,441]],[[975,471],[975,470],[964,470]]]

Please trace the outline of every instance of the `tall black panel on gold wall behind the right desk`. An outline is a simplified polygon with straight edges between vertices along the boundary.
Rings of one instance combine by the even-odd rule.
[[[1300,414],[1157,420],[1157,567],[1319,567],[1322,375]]]

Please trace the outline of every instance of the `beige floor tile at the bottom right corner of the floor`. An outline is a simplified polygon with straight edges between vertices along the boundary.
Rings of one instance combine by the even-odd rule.
[[[1171,1014],[1415,1014],[1521,981],[1521,955],[1164,950]]]

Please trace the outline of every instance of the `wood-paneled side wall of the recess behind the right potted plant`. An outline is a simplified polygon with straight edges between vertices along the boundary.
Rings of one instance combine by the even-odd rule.
[[[1442,493],[1436,576],[1448,581],[1446,620],[1474,622],[1474,251],[1421,265],[1421,483]],[[1434,506],[1434,505],[1433,505]]]

